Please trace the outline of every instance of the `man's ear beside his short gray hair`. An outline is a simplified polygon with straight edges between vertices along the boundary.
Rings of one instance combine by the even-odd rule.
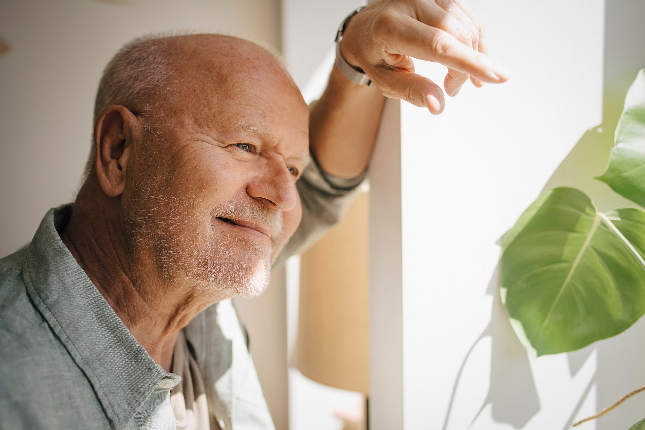
[[[125,190],[128,159],[137,139],[141,139],[139,119],[128,108],[114,105],[101,112],[94,129],[96,175],[110,197]]]

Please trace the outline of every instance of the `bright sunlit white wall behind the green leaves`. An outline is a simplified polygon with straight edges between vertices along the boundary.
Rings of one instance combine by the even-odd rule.
[[[495,242],[547,185],[578,186],[602,210],[624,204],[591,177],[604,170],[621,98],[645,66],[645,4],[469,3],[491,57],[513,75],[500,86],[466,84],[438,117],[401,103],[401,145],[377,148],[371,359],[389,359],[372,361],[370,422],[564,430],[645,383],[645,322],[582,351],[529,357],[499,301]],[[435,64],[418,61],[417,70],[442,81]],[[387,175],[395,181],[377,180]],[[645,398],[633,398],[585,428],[626,430],[644,411]]]

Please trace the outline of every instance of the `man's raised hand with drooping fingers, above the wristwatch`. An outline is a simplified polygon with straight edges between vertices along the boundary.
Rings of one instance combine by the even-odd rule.
[[[510,73],[486,57],[484,28],[461,0],[380,0],[361,10],[348,24],[343,57],[361,68],[383,95],[444,109],[441,88],[414,73],[412,57],[448,67],[444,88],[459,93],[468,80],[481,87],[502,83]]]

